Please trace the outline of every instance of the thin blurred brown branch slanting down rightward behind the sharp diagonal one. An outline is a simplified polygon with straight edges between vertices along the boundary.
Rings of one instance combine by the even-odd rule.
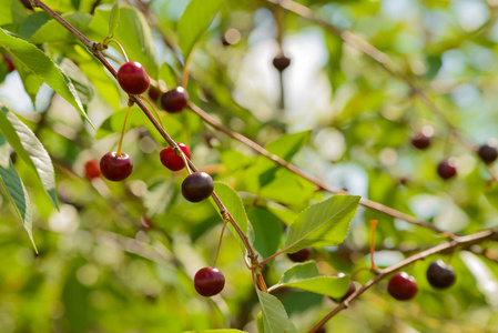
[[[214,118],[212,118],[209,113],[206,113],[204,110],[202,110],[201,108],[199,108],[197,105],[190,103],[190,109],[192,111],[194,111],[195,113],[197,113],[206,123],[209,123],[210,125],[212,125],[213,128],[215,128],[216,130],[218,130],[220,132],[223,132],[225,134],[227,134],[228,137],[244,143],[245,145],[252,148],[254,151],[256,151],[258,154],[272,160],[273,162],[275,162],[276,164],[278,164],[282,168],[287,169],[288,171],[311,181],[312,183],[314,183],[315,185],[317,185],[319,189],[328,191],[331,193],[335,193],[335,194],[349,194],[348,192],[342,190],[342,189],[337,189],[334,188],[332,185],[326,184],[325,182],[321,181],[319,179],[309,175],[307,173],[305,173],[303,170],[301,170],[299,168],[295,167],[294,164],[288,163],[287,161],[285,161],[284,159],[280,158],[278,155],[272,154],[270,153],[267,150],[265,150],[263,147],[261,147],[260,144],[257,144],[256,142],[252,141],[251,139],[234,132],[227,128],[225,128],[223,124],[221,124],[218,121],[216,121]],[[362,198],[359,200],[359,204],[362,204],[363,206],[376,210],[380,213],[384,213],[386,215],[393,216],[393,218],[398,218],[402,220],[405,220],[409,223],[419,225],[419,226],[424,226],[430,230],[434,230],[436,232],[439,233],[444,233],[443,230],[440,230],[439,228],[437,228],[436,225],[430,224],[427,221],[424,221],[421,219],[411,216],[409,214],[399,212],[397,210],[394,210],[392,208],[388,208],[382,203],[368,200],[368,199],[364,199]]]

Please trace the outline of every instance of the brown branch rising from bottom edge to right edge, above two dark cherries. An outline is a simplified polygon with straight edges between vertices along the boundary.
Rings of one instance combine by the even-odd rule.
[[[492,238],[496,238],[496,235],[498,234],[498,229],[489,229],[489,230],[484,230],[484,231],[479,231],[469,235],[465,235],[465,236],[455,236],[451,241],[446,242],[446,243],[441,243],[439,245],[436,245],[434,248],[427,249],[423,252],[419,252],[417,254],[414,254],[407,259],[405,259],[404,261],[392,265],[390,268],[387,268],[385,270],[379,270],[379,274],[376,275],[374,279],[369,280],[367,283],[365,283],[360,289],[358,289],[357,291],[355,291],[353,294],[349,295],[349,297],[347,297],[343,303],[341,303],[339,305],[337,305],[333,311],[331,311],[331,313],[328,313],[322,321],[319,321],[315,326],[313,326],[313,329],[309,330],[308,333],[314,333],[316,332],[319,327],[322,327],[328,320],[331,320],[334,315],[336,315],[337,313],[339,313],[342,310],[346,309],[349,303],[357,299],[360,294],[363,294],[365,291],[367,291],[368,289],[370,289],[373,285],[375,285],[377,282],[379,282],[380,280],[383,280],[384,278],[386,278],[387,275],[392,274],[393,272],[396,272],[397,270],[400,270],[416,261],[426,259],[429,255],[436,254],[436,253],[441,253],[448,250],[454,250],[457,246],[468,246],[472,243],[478,243],[478,242],[482,242],[486,240],[490,240]]]

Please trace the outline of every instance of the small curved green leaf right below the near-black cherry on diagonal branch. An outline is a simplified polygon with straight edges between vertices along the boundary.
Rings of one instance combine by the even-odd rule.
[[[232,214],[234,220],[237,222],[241,230],[247,234],[247,214],[245,213],[244,204],[242,203],[241,198],[238,196],[237,192],[235,192],[231,186],[228,186],[225,183],[215,181],[214,182],[214,192],[216,192],[220,200],[223,202],[225,208],[228,210],[228,212]],[[211,199],[211,203],[217,208],[217,205],[214,203],[214,200]],[[223,216],[222,216],[223,218]],[[236,240],[238,241],[242,249],[245,249],[244,243],[242,242],[241,238],[238,236],[235,229],[232,226],[232,223],[227,223],[227,226],[232,231],[232,233],[235,235]]]

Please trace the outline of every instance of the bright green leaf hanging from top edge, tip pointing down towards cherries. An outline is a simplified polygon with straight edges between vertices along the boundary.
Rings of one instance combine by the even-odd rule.
[[[179,43],[185,61],[222,3],[223,0],[192,0],[186,7],[179,21]]]

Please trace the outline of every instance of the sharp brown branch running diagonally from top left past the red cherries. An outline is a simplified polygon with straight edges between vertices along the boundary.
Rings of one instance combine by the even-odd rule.
[[[61,16],[59,16],[55,11],[53,11],[50,7],[48,7],[45,3],[43,3],[41,0],[34,0],[34,4],[37,7],[40,7],[41,9],[43,9],[50,17],[52,17],[55,21],[58,21],[62,27],[64,27],[65,29],[68,29],[72,34],[74,34],[83,44],[84,47],[87,47],[87,49],[109,70],[109,72],[116,78],[118,73],[115,71],[115,69],[109,63],[109,61],[103,57],[103,54],[99,51],[99,43],[98,42],[93,42],[91,40],[89,40],[83,33],[81,33],[80,31],[78,31],[78,29],[75,29],[73,26],[71,26],[68,21],[65,21]],[[154,128],[156,129],[156,131],[161,134],[161,137],[163,137],[163,139],[167,142],[167,144],[175,151],[175,152],[180,152],[181,150],[177,147],[176,142],[166,133],[166,131],[164,131],[164,129],[161,127],[161,124],[155,120],[154,115],[151,113],[151,111],[149,111],[149,109],[146,108],[146,105],[142,102],[142,100],[140,99],[139,95],[132,95],[130,94],[130,100],[133,101],[134,103],[136,103],[136,105],[139,105],[139,108],[143,111],[143,113],[146,115],[146,118],[149,118],[149,121],[154,125]],[[195,165],[192,163],[192,161],[189,160],[189,167],[194,170],[194,171],[199,171]],[[246,246],[247,250],[247,256],[253,261],[257,259],[257,254],[254,252],[251,243],[248,242],[247,236],[244,234],[244,232],[241,230],[241,228],[238,226],[238,224],[236,223],[236,221],[232,218],[232,215],[230,214],[228,210],[225,208],[225,205],[223,204],[223,202],[220,200],[220,198],[216,195],[216,193],[213,192],[212,195],[214,202],[216,203],[216,205],[220,209],[220,212],[222,213],[222,215],[224,214],[228,214],[230,216],[230,222],[232,223],[232,225],[235,228],[235,230],[237,231],[238,235],[241,236],[241,239],[244,242],[244,245]]]

